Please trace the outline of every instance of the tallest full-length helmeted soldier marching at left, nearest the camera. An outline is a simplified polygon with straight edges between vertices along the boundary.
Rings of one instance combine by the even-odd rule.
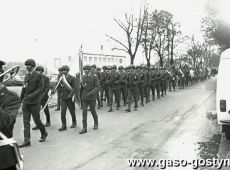
[[[26,69],[28,73],[24,78],[24,86],[21,92],[22,111],[23,111],[23,123],[24,123],[24,142],[19,147],[30,146],[30,118],[31,114],[34,119],[34,123],[41,132],[41,138],[39,142],[44,142],[48,133],[45,126],[40,119],[40,106],[41,97],[44,90],[44,82],[42,75],[34,71],[36,63],[33,59],[25,61]]]

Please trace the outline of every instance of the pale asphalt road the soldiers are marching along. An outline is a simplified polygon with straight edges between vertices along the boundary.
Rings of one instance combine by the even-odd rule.
[[[229,142],[221,133],[214,112],[215,89],[216,78],[211,78],[183,90],[168,92],[160,100],[139,106],[138,111],[126,113],[126,108],[122,107],[119,111],[107,112],[108,108],[104,107],[97,110],[99,129],[92,129],[93,121],[89,115],[88,133],[84,135],[78,134],[82,126],[81,110],[76,111],[78,127],[59,132],[60,112],[51,109],[52,126],[47,128],[47,141],[39,143],[39,131],[31,131],[32,145],[21,149],[24,169],[126,170],[143,169],[129,167],[127,159],[132,158],[227,158]],[[41,117],[44,120],[44,115]],[[69,113],[67,123],[71,125]],[[23,141],[20,116],[14,136],[18,143]]]

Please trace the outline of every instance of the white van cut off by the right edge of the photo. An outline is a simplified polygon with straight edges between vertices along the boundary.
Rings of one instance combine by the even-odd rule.
[[[223,51],[217,76],[216,110],[218,123],[230,139],[230,48]]]

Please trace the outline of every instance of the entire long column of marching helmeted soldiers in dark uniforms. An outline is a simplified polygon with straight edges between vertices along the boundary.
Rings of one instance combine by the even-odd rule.
[[[5,63],[0,61],[0,73],[3,73],[2,65]],[[18,113],[18,109],[22,103],[23,124],[24,124],[24,142],[19,147],[31,145],[30,141],[30,119],[34,120],[35,127],[33,130],[39,129],[41,138],[39,142],[44,142],[48,136],[46,128],[51,125],[50,113],[48,105],[50,82],[49,78],[44,74],[42,66],[36,67],[33,59],[25,61],[28,73],[24,78],[24,85],[20,97],[16,93],[9,91],[2,83],[0,77],[0,131],[8,138],[13,136],[13,127]],[[160,99],[166,95],[167,89],[171,91],[178,85],[180,89],[193,85],[198,80],[203,81],[210,77],[210,69],[192,68],[184,66],[178,68],[171,66],[170,68],[154,68],[140,65],[129,65],[127,67],[116,65],[103,66],[102,69],[96,65],[85,65],[83,67],[84,74],[72,76],[69,74],[70,68],[63,65],[59,68],[57,88],[51,91],[53,95],[57,91],[57,109],[61,111],[62,126],[59,131],[67,130],[66,111],[69,109],[72,125],[71,128],[77,126],[75,114],[75,101],[80,103],[82,109],[82,125],[80,134],[87,132],[87,111],[90,110],[94,119],[93,129],[98,129],[97,109],[108,106],[108,112],[121,109],[121,105],[125,106],[126,112],[131,112],[131,105],[134,102],[133,110],[137,111],[140,106],[144,107],[150,101]],[[59,81],[62,77],[63,81]],[[139,102],[140,101],[140,102]],[[44,108],[45,107],[45,108]],[[40,119],[41,108],[46,116],[46,124]],[[5,126],[5,127],[4,127]],[[1,139],[1,138],[0,138]],[[3,147],[0,147],[1,149]],[[9,166],[11,160],[11,149],[4,150],[7,156],[0,156],[1,167]],[[7,162],[7,160],[8,162]],[[9,165],[7,165],[7,163]]]

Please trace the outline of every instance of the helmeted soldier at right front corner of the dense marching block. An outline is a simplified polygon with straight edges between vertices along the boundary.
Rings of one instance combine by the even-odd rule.
[[[134,111],[138,108],[138,82],[139,77],[134,72],[135,66],[130,65],[127,69],[129,69],[129,73],[127,75],[127,88],[128,88],[128,108],[125,110],[127,112],[131,111],[131,103],[132,103],[132,96],[134,98]]]

